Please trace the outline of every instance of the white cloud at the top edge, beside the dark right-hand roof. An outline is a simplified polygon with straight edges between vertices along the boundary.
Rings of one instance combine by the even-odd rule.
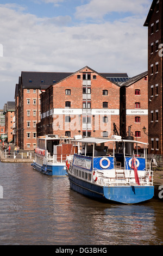
[[[90,0],[89,3],[76,8],[76,17],[81,20],[102,19],[104,15],[112,12],[140,15],[147,11],[150,3],[149,0]]]

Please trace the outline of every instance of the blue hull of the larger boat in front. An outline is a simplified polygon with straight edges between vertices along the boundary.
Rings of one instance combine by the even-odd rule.
[[[154,186],[97,186],[80,180],[68,173],[72,190],[84,196],[118,202],[122,204],[137,204],[152,199]]]

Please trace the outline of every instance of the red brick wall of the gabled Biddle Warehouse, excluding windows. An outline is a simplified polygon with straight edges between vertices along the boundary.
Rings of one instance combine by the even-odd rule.
[[[91,103],[91,108],[87,113],[87,116],[91,118],[91,128],[87,131],[91,132],[92,137],[102,137],[103,131],[108,131],[108,136],[112,135],[113,123],[116,123],[117,126],[120,125],[120,115],[107,115],[108,124],[103,123],[103,115],[92,115],[91,109],[103,109],[103,102],[108,102],[109,109],[120,109],[120,87],[116,86],[114,83],[106,80],[104,77],[98,75],[96,72],[85,68],[76,72],[70,77],[67,77],[65,80],[59,82],[58,84],[53,85],[53,108],[65,108],[65,102],[71,102],[70,109],[83,109],[83,72],[91,75],[91,86],[87,88],[91,89],[91,99],[88,102]],[[78,76],[80,75],[80,79]],[[96,76],[96,79],[93,79],[93,76]],[[66,95],[65,90],[70,89],[71,95]],[[108,90],[108,95],[103,95],[103,90]],[[48,90],[46,93],[41,95],[43,102],[42,108],[43,112],[48,111],[45,107],[45,102],[48,98]],[[115,100],[116,99],[116,100]],[[44,105],[44,107],[43,107]],[[47,104],[46,104],[47,106]],[[84,109],[85,111],[85,109]],[[65,131],[71,131],[71,137],[74,135],[83,135],[85,131],[82,127],[83,116],[86,114],[79,113],[76,115],[71,115],[71,123],[65,123],[66,115],[54,115],[53,117],[53,129],[51,123],[51,117],[46,117],[41,119],[42,125],[42,135],[49,133],[54,133],[59,136],[65,136]],[[45,126],[43,126],[45,125]],[[108,126],[109,128],[108,128]],[[50,128],[49,128],[50,126]],[[107,127],[106,127],[107,126]]]

